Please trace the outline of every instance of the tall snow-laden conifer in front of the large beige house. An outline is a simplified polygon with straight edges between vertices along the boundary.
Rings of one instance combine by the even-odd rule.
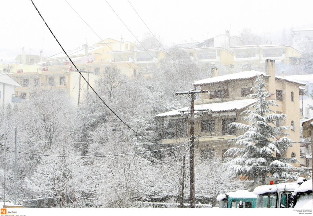
[[[254,183],[265,179],[268,174],[279,179],[296,179],[300,169],[293,165],[298,160],[296,158],[284,157],[288,147],[292,146],[292,140],[287,138],[288,133],[284,132],[294,129],[291,126],[278,126],[285,121],[285,114],[276,114],[270,106],[278,106],[274,100],[266,100],[271,94],[266,91],[266,83],[262,76],[258,76],[251,89],[253,94],[247,97],[258,99],[257,102],[242,112],[242,120],[250,125],[242,123],[231,123],[230,128],[237,128],[245,131],[243,135],[234,140],[229,140],[238,148],[230,148],[225,152],[225,156],[232,157],[228,161],[228,170],[237,176],[254,179]],[[277,124],[278,123],[278,124]],[[238,164],[238,165],[237,165]]]

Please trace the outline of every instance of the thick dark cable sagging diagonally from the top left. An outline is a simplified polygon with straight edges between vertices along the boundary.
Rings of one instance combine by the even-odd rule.
[[[74,62],[72,61],[72,59],[69,57],[69,55],[65,52],[64,48],[62,47],[62,45],[60,44],[60,42],[58,41],[58,39],[55,37],[54,33],[51,31],[50,27],[48,26],[47,22],[44,20],[44,17],[41,16],[39,10],[37,9],[37,7],[35,6],[33,0],[30,0],[33,3],[33,6],[35,7],[35,9],[37,10],[39,16],[42,18],[42,20],[44,21],[44,23],[46,24],[46,26],[48,27],[49,31],[51,32],[51,34],[53,35],[53,37],[55,38],[55,40],[58,42],[59,46],[62,48],[63,52],[65,53],[65,55],[69,58],[69,61],[72,62],[72,64],[74,65],[74,67],[76,68],[76,70],[80,73],[80,75],[83,77],[83,79],[86,81],[86,83],[88,84],[88,86],[90,86],[91,90],[95,92],[96,96],[99,97],[99,99],[103,102],[103,104],[121,121],[123,122],[124,125],[126,125],[129,129],[131,129],[132,131],[134,131],[137,135],[141,136],[142,138],[148,140],[151,143],[156,143],[148,138],[146,138],[145,136],[139,134],[136,130],[132,129],[131,126],[127,125],[104,101],[103,99],[98,95],[98,93],[94,90],[94,88],[89,84],[89,82],[85,79],[85,77],[82,75],[82,73],[78,70],[78,68],[76,67],[76,65],[74,64]]]

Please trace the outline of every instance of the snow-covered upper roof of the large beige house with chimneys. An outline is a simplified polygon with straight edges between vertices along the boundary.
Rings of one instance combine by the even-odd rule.
[[[260,71],[243,71],[239,73],[233,73],[233,74],[228,74],[228,75],[223,75],[223,76],[216,76],[216,77],[211,77],[199,81],[194,81],[192,83],[193,86],[200,86],[204,84],[210,84],[210,83],[215,83],[215,82],[223,82],[223,81],[228,81],[228,80],[241,80],[241,79],[249,79],[252,77],[256,77],[257,75],[262,75],[262,76],[267,76],[270,77],[269,75],[266,75],[264,72]]]

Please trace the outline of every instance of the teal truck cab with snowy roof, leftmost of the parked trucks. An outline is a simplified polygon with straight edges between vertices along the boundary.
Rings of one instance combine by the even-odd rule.
[[[248,190],[238,190],[217,196],[219,208],[255,208],[257,195]]]

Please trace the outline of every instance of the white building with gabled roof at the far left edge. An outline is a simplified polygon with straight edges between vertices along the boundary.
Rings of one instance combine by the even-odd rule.
[[[21,87],[18,82],[13,80],[8,74],[0,73],[0,106],[11,104],[14,106],[20,103],[21,99],[15,97],[15,87]]]

